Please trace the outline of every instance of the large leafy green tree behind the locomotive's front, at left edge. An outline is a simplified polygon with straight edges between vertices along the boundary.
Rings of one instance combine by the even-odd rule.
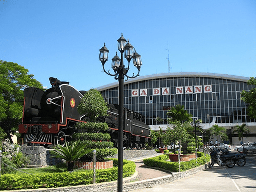
[[[42,84],[28,72],[17,63],[0,60],[0,129],[6,133],[6,137],[11,142],[11,135],[17,131],[18,123],[22,120],[23,89],[27,87],[43,89]]]

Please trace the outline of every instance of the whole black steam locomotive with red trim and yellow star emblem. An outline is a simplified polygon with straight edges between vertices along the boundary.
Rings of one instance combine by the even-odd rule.
[[[19,133],[23,142],[51,146],[65,145],[77,130],[76,123],[84,122],[84,115],[77,110],[85,91],[77,91],[69,82],[50,77],[51,88],[46,91],[38,88],[24,89],[24,109]],[[111,140],[117,146],[118,106],[109,104],[108,116],[99,121],[109,125]],[[150,129],[141,114],[124,108],[124,147],[143,148],[150,142]]]

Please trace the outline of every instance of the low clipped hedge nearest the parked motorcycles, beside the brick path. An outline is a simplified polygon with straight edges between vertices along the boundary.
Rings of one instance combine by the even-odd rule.
[[[201,157],[199,157],[199,156],[201,156]],[[167,161],[167,160],[169,160],[168,154],[162,154],[157,157],[144,159],[143,162],[147,166],[166,169],[170,172],[179,172],[179,162],[171,162],[171,161]],[[191,161],[182,161],[180,163],[180,170],[186,171],[188,169],[198,167],[200,165],[204,165],[205,163],[207,163],[209,161],[210,161],[209,155],[204,157],[204,155],[198,153],[197,163],[196,163],[195,159],[191,160]]]

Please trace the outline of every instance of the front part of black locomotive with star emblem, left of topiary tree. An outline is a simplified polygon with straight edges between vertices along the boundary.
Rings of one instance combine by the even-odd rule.
[[[19,133],[24,143],[64,145],[66,139],[76,131],[76,122],[83,115],[77,111],[83,95],[69,82],[50,77],[51,88],[44,91],[38,88],[24,89],[24,112]]]

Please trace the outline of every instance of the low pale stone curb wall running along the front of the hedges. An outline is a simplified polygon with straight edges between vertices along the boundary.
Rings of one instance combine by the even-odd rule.
[[[201,165],[199,167],[195,167],[193,169],[189,169],[184,172],[173,173],[172,175],[167,175],[163,177],[147,179],[142,181],[134,181],[138,177],[138,172],[136,171],[133,176],[127,177],[123,179],[123,191],[129,192],[131,190],[139,190],[144,188],[154,187],[159,184],[170,183],[172,181],[185,178],[190,175],[194,175],[200,171],[203,171],[209,167],[209,163],[205,165]],[[84,191],[84,192],[91,192],[91,191],[104,191],[104,192],[116,192],[117,191],[117,181],[111,182],[104,182],[104,183],[97,183],[97,184],[89,184],[89,185],[80,185],[80,186],[71,186],[71,187],[59,187],[59,188],[39,188],[39,189],[27,189],[27,190],[15,190],[8,192],[76,192],[76,191]],[[5,192],[5,191],[3,191]],[[7,192],[7,191],[6,191]]]

